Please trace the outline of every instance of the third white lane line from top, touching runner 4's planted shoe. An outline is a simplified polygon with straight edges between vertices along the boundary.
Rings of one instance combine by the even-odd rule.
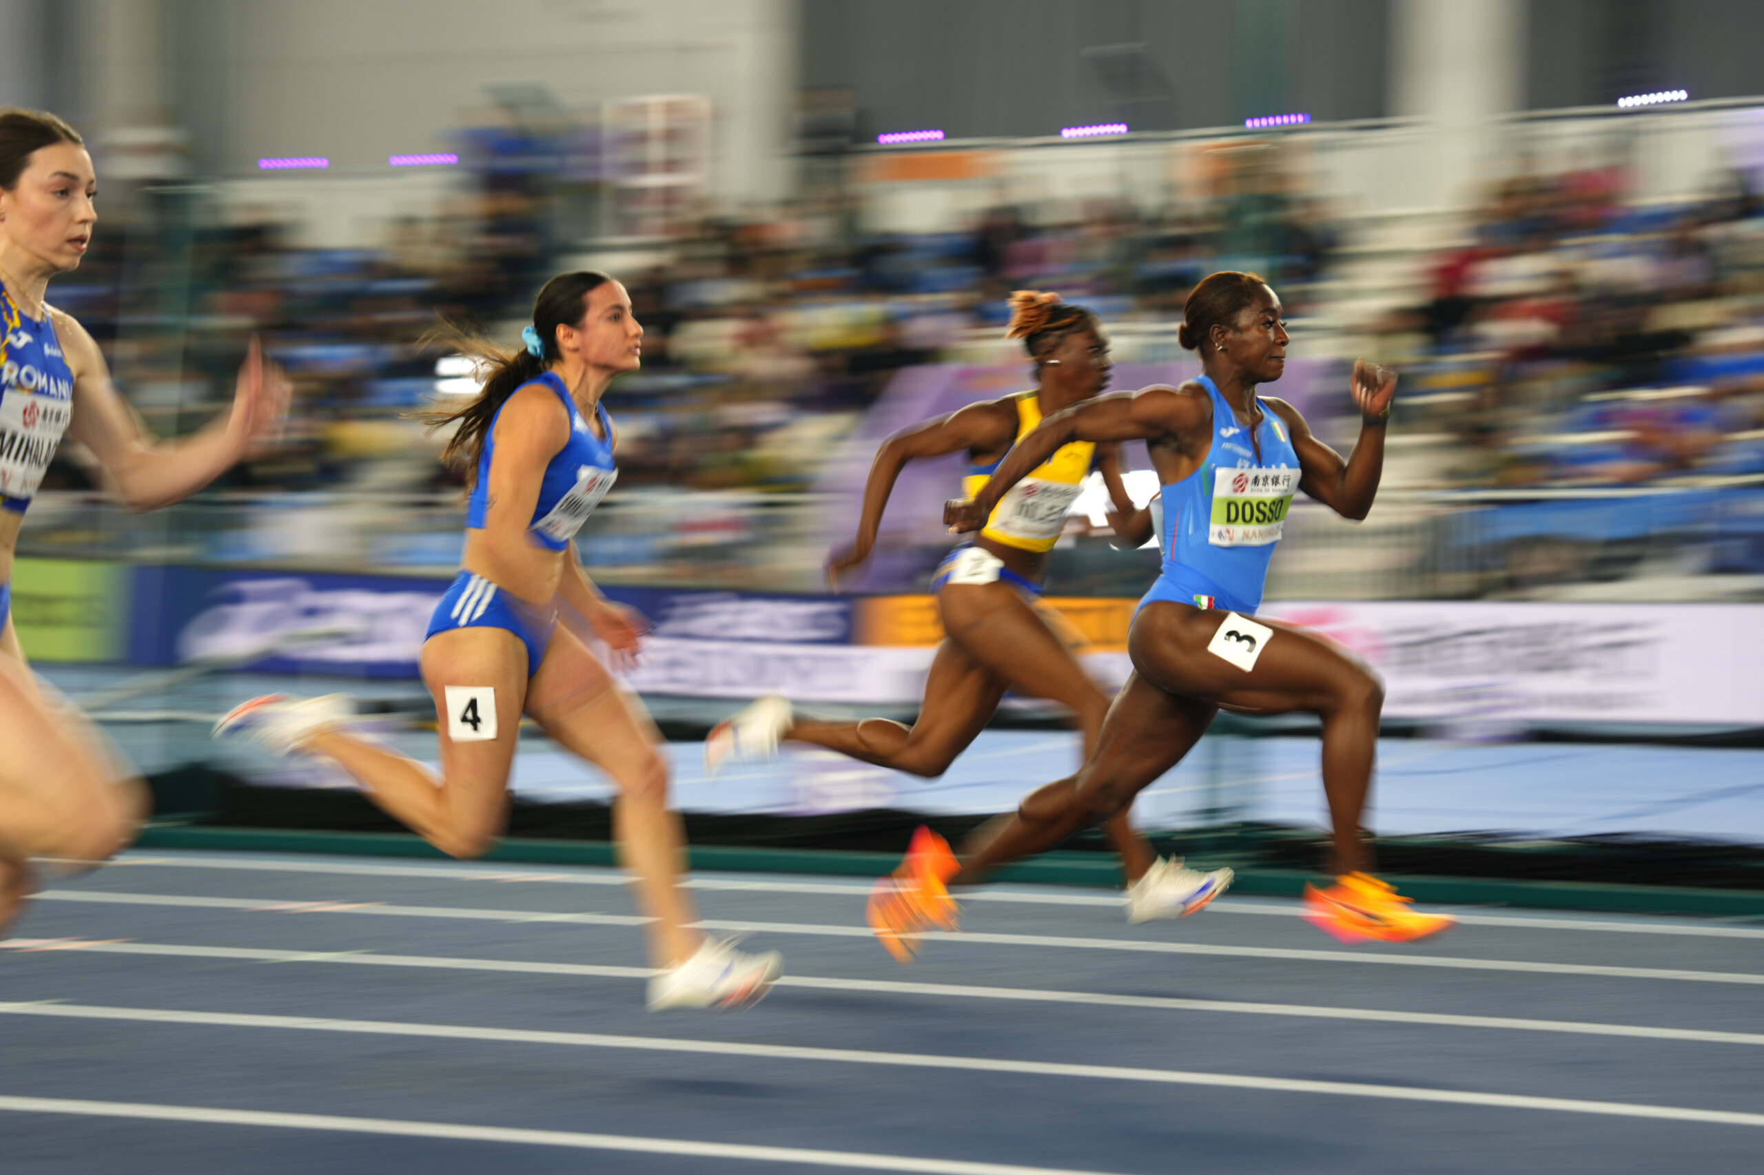
[[[372,951],[277,951],[259,947],[183,946],[171,942],[85,942],[7,939],[0,949],[14,951],[92,951],[97,954],[150,954],[169,958],[224,958],[256,963],[355,963],[363,967],[422,967],[434,970],[478,970],[520,976],[572,976],[591,979],[647,979],[647,967],[607,963],[531,963],[496,958],[448,958],[432,954],[377,954]],[[1198,1000],[1166,995],[1110,995],[1102,992],[1050,992],[1037,988],[995,988],[954,983],[905,983],[891,979],[833,979],[822,976],[785,976],[781,988],[822,992],[878,992],[887,995],[935,995],[979,1000],[1021,1000],[1035,1004],[1080,1004],[1090,1007],[1138,1007],[1150,1011],[1198,1011],[1249,1016],[1297,1016],[1305,1020],[1357,1020],[1372,1023],[1418,1023],[1448,1029],[1506,1029],[1521,1032],[1565,1032],[1573,1036],[1621,1036],[1651,1041],[1697,1041],[1704,1044],[1764,1044],[1764,1032],[1718,1032],[1709,1029],[1655,1029],[1626,1023],[1582,1020],[1522,1020],[1515,1016],[1462,1016],[1452,1013],[1408,1013],[1376,1007],[1332,1007],[1321,1004],[1267,1004],[1247,1000]]]

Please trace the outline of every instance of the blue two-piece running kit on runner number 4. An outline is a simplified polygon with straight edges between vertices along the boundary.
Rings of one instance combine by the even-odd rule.
[[[612,464],[612,422],[607,418],[607,408],[596,404],[594,416],[600,420],[602,434],[594,436],[587,427],[587,418],[577,411],[575,400],[570,399],[570,390],[564,388],[563,379],[552,372],[545,372],[533,383],[545,385],[563,400],[564,409],[570,413],[570,439],[564,441],[564,446],[545,466],[545,476],[540,482],[540,499],[533,508],[533,520],[527,533],[547,550],[564,550],[619,476],[617,468]],[[519,392],[520,388],[515,390]],[[508,400],[503,400],[503,404],[506,406]],[[471,490],[471,503],[466,506],[466,526],[473,529],[483,529],[490,455],[496,445],[494,430],[496,420],[501,415],[503,409],[497,408],[496,416],[490,418],[490,430],[483,436],[483,453],[478,457],[478,482]],[[437,632],[448,632],[450,628],[506,628],[527,647],[527,676],[531,677],[540,670],[540,662],[545,658],[545,646],[550,642],[554,626],[556,617],[549,609],[519,600],[483,575],[462,570],[429,617],[429,632],[423,633],[423,639],[427,640]]]

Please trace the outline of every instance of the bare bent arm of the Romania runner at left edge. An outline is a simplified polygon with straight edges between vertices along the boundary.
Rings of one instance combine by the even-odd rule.
[[[252,339],[238,370],[233,409],[183,441],[157,441],[116,393],[109,365],[86,328],[60,311],[49,314],[74,372],[74,418],[67,436],[93,452],[132,510],[157,510],[189,498],[282,425],[288,378],[263,358]]]

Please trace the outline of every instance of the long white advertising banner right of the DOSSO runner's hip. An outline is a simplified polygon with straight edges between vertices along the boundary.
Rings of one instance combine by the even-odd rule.
[[[1764,725],[1755,603],[1279,602],[1258,616],[1364,656],[1387,718]]]

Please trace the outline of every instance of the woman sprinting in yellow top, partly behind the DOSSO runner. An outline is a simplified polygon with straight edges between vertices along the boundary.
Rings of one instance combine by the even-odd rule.
[[[908,460],[965,450],[970,475],[963,489],[972,496],[1043,416],[1085,402],[1108,386],[1108,341],[1085,307],[1062,303],[1051,293],[1018,291],[1011,296],[1005,335],[1021,339],[1035,360],[1035,390],[970,404],[891,436],[864,485],[857,540],[834,556],[829,577],[870,558],[882,510]],[[1111,522],[1127,526],[1132,501],[1120,482],[1115,446],[1073,441],[1043,453],[1023,485],[997,496],[981,535],[951,550],[937,568],[931,589],[946,637],[912,727],[884,718],[810,722],[796,718],[790,704],[773,695],[711,732],[707,764],[714,767],[732,752],[769,755],[778,739],[794,739],[882,767],[937,776],[974,743],[1007,688],[1076,711],[1088,755],[1108,711],[1108,695],[1073,656],[1069,644],[1081,644],[1083,637],[1039,596],[1048,552],[1092,469],[1101,469],[1108,483],[1117,510]],[[1231,880],[1230,870],[1196,873],[1175,861],[1154,861],[1150,845],[1127,822],[1125,806],[1111,813],[1106,831],[1122,854],[1131,921],[1189,914]]]

